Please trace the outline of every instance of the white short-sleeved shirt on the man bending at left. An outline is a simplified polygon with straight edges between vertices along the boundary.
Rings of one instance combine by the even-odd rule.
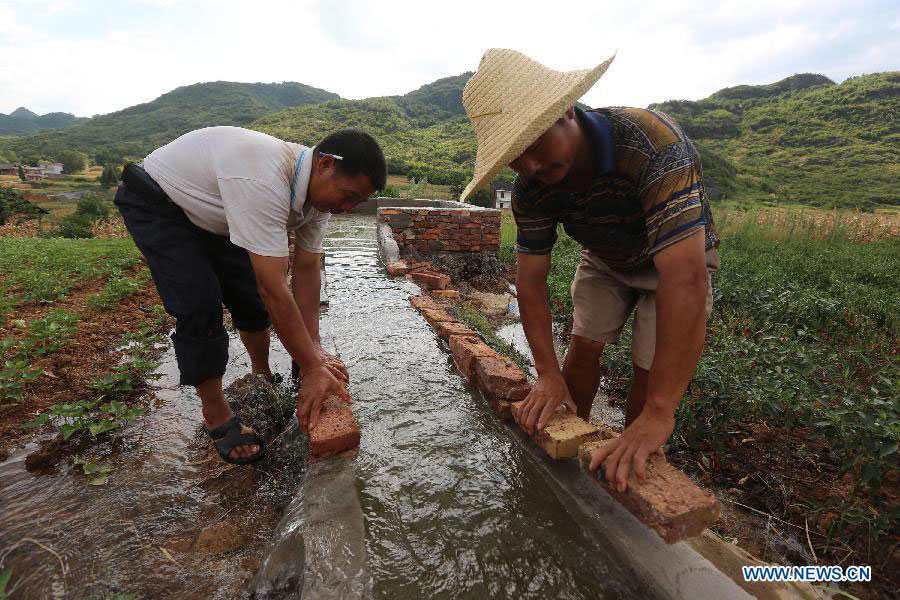
[[[331,214],[306,201],[312,156],[258,131],[207,127],[157,148],[144,169],[197,227],[254,254],[287,256],[291,230],[298,248],[322,252]]]

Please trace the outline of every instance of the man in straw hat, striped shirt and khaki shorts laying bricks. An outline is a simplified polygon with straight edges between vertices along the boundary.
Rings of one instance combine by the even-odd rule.
[[[538,379],[517,419],[542,429],[560,404],[588,418],[605,344],[634,313],[634,379],[625,430],[591,462],[625,491],[633,469],[662,455],[697,366],[712,309],[709,273],[718,236],[700,157],[667,115],[644,109],[583,111],[575,101],[613,58],[560,72],[514,50],[485,52],[463,104],[478,137],[465,199],[509,165],[518,173],[516,285]],[[582,246],[572,283],[572,338],[560,368],[547,274],[557,225]]]

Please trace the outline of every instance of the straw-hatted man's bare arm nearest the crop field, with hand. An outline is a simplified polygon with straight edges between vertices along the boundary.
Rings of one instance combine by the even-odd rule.
[[[709,276],[703,229],[653,256],[656,353],[641,414],[613,442],[594,453],[591,469],[606,462],[606,480],[624,492],[633,468],[643,481],[647,457],[662,453],[675,428],[675,411],[693,376],[706,336]]]

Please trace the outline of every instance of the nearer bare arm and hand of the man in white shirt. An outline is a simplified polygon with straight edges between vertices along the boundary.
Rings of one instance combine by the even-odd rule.
[[[350,401],[350,396],[323,363],[319,346],[310,335],[288,289],[284,276],[287,272],[287,258],[261,256],[253,252],[249,254],[256,274],[256,285],[272,318],[275,332],[303,374],[303,386],[297,400],[297,418],[306,431],[315,429],[319,420],[319,408],[327,396],[334,394],[347,402]],[[317,301],[318,289],[317,287]],[[318,336],[318,321],[315,331]]]

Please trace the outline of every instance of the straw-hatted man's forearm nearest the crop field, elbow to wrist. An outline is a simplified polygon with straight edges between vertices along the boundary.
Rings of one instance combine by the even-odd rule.
[[[656,290],[656,354],[646,406],[672,416],[700,360],[706,336],[707,280],[664,283]]]

